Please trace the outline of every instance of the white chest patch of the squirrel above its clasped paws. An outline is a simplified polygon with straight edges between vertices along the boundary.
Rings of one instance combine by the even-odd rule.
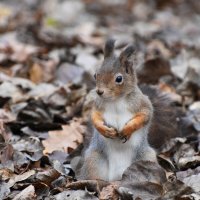
[[[124,125],[133,117],[128,108],[128,103],[124,100],[108,103],[105,106],[103,118],[106,124],[121,130]]]

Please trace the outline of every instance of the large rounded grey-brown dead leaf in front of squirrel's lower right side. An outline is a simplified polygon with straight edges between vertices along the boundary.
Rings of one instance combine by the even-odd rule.
[[[154,162],[138,161],[123,174],[117,191],[122,199],[156,199],[164,194],[165,171]]]

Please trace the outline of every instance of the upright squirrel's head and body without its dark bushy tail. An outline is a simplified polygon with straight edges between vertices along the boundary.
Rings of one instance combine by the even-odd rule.
[[[94,132],[79,169],[74,167],[78,179],[117,181],[138,160],[157,162],[156,150],[148,137],[151,130],[155,133],[159,129],[155,122],[159,119],[154,117],[159,109],[150,100],[157,101],[158,95],[145,87],[147,96],[138,86],[134,45],[127,46],[119,56],[114,54],[114,48],[115,40],[107,40],[104,61],[94,75],[96,94],[91,113]],[[158,136],[155,140],[158,142]]]

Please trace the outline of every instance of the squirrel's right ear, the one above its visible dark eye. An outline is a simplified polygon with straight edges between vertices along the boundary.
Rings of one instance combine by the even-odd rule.
[[[120,63],[123,67],[126,67],[126,71],[128,72],[128,68],[132,68],[134,57],[136,56],[136,48],[133,45],[129,45],[126,47],[124,51],[121,52],[119,56]],[[132,70],[132,69],[131,69]]]

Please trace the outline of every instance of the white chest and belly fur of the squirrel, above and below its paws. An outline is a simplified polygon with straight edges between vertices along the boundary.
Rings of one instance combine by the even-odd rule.
[[[133,117],[126,107],[127,102],[118,101],[108,104],[103,115],[106,123],[117,130],[122,130],[124,125]],[[120,139],[107,139],[108,148],[108,179],[120,180],[123,172],[131,165],[136,157],[136,149],[141,144],[145,128],[136,131],[131,138],[123,143]]]

